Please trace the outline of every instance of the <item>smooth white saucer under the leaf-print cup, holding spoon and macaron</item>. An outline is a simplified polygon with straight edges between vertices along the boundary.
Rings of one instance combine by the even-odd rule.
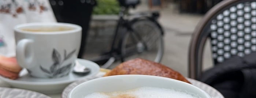
[[[62,78],[35,78],[28,74],[26,69],[23,69],[20,72],[20,78],[16,80],[4,78],[0,76],[0,79],[4,82],[7,82],[12,87],[15,88],[22,88],[26,90],[37,91],[44,94],[51,94],[51,93],[59,93],[71,82],[75,80],[88,78],[90,76],[94,76],[100,71],[100,67],[98,64],[84,59],[77,59],[78,63],[84,65],[85,67],[91,69],[91,72],[85,76],[76,75],[73,72],[70,72],[69,75],[64,76]]]

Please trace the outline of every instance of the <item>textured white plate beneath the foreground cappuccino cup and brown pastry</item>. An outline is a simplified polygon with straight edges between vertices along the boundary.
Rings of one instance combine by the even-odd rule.
[[[100,72],[99,74],[93,76],[93,77],[89,77],[89,78],[84,78],[84,79],[81,79],[81,80],[78,80],[78,81],[75,81],[71,84],[69,84],[62,92],[62,98],[67,98],[67,95],[68,93],[75,87],[75,86],[78,86],[79,84],[81,83],[84,83],[88,80],[92,80],[92,79],[96,79],[96,78],[100,78],[102,77],[103,75],[105,75],[105,72]],[[190,78],[186,78],[188,79],[188,81],[190,83],[192,83],[194,86],[197,86],[199,88],[201,88],[202,90],[206,91],[212,98],[224,98],[223,95],[218,91],[216,90],[215,88],[203,83],[203,82],[200,82],[198,80],[194,80],[194,79],[190,79]]]

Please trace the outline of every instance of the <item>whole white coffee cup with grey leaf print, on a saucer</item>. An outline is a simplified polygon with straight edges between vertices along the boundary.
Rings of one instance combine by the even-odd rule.
[[[31,76],[68,75],[80,49],[82,28],[70,23],[25,23],[14,27],[16,59]]]

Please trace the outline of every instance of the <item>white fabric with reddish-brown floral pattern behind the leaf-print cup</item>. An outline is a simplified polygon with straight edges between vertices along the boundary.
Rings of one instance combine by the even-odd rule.
[[[13,27],[30,22],[56,22],[48,0],[0,0],[0,55],[16,56]]]

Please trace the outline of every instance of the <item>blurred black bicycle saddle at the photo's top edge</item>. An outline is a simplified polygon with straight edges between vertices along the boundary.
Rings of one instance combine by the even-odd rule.
[[[119,3],[123,7],[133,7],[135,8],[138,4],[140,4],[140,0],[119,0]]]

